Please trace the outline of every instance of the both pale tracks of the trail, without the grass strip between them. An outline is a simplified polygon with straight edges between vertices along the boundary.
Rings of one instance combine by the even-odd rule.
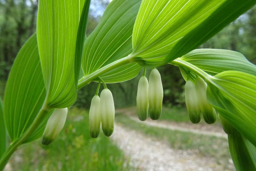
[[[136,108],[135,108],[136,109]],[[134,108],[117,110],[116,113],[124,113],[132,120],[139,121],[134,116]],[[133,114],[131,114],[133,113]],[[196,134],[226,137],[221,133],[220,128],[204,128],[179,125],[175,122],[165,121],[144,121],[144,124],[168,128],[172,130],[181,130],[193,132]],[[192,124],[191,124],[192,125]],[[186,127],[187,126],[187,127]],[[202,126],[201,126],[202,127]],[[216,132],[220,131],[220,132]],[[170,145],[154,137],[148,137],[137,130],[124,128],[120,123],[115,122],[115,131],[111,136],[116,145],[124,151],[126,156],[131,158],[132,166],[138,170],[146,171],[221,171],[223,166],[217,163],[216,159],[204,157],[192,150],[174,150]],[[234,170],[232,161],[227,163],[230,170]],[[227,171],[227,170],[226,170]]]

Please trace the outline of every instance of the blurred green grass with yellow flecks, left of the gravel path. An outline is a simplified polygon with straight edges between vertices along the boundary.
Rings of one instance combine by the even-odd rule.
[[[57,139],[50,145],[40,140],[25,144],[11,159],[16,171],[84,171],[134,170],[126,158],[101,132],[96,139],[90,137],[89,117],[84,110],[73,108]]]

